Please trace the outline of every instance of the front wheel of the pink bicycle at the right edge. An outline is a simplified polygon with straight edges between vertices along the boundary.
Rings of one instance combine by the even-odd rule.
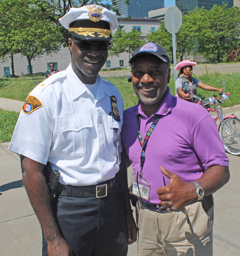
[[[219,134],[226,151],[232,155],[240,155],[240,119],[226,118],[219,126]]]

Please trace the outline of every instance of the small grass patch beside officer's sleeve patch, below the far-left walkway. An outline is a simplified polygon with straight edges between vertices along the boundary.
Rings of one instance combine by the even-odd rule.
[[[0,142],[10,141],[19,112],[0,109]]]

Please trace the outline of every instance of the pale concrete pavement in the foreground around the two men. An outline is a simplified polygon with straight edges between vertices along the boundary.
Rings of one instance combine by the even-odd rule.
[[[0,143],[0,256],[41,256],[40,225],[23,186],[20,159],[8,146]],[[214,194],[214,256],[240,252],[240,158],[228,157],[230,181]],[[131,168],[128,172],[130,176]],[[128,256],[137,256],[136,243]]]

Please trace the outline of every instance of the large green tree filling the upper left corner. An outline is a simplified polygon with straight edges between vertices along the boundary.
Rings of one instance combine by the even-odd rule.
[[[31,61],[43,54],[51,54],[60,49],[59,28],[42,17],[42,13],[30,0],[1,1],[0,54],[21,53],[28,60],[30,73]],[[5,11],[4,11],[5,10]]]

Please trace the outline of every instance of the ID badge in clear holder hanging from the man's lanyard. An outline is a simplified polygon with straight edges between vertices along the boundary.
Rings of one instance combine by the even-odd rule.
[[[132,172],[131,183],[130,183],[130,193],[132,195],[142,197],[142,199],[149,201],[150,189],[151,189],[150,183],[148,183],[144,178],[140,178],[140,177],[138,177],[138,182],[137,182],[137,174]]]

